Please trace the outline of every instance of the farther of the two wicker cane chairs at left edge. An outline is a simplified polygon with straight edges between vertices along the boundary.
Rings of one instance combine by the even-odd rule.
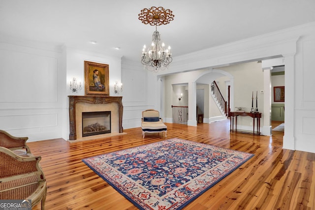
[[[28,139],[28,137],[15,137],[0,130],[0,147],[12,150],[15,154],[23,157],[33,156],[29,146],[26,145]]]

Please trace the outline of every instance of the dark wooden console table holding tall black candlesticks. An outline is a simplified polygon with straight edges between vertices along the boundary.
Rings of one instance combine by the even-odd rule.
[[[252,135],[260,135],[260,118],[259,112],[230,112],[230,131],[234,131],[234,118],[235,118],[235,131],[237,131],[237,116],[249,116],[252,118]],[[255,133],[255,119],[257,120],[257,131]]]

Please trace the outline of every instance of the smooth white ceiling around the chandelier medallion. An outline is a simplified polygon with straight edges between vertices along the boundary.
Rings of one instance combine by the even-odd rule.
[[[158,27],[173,57],[315,22],[315,0],[0,0],[0,41],[65,45],[140,62],[155,27],[138,14],[151,6],[175,15]]]

